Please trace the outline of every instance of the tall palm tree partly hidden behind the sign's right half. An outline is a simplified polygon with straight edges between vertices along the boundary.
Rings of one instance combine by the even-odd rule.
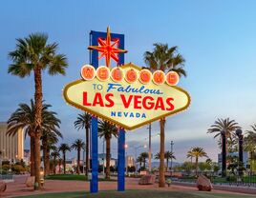
[[[144,61],[152,71],[160,69],[162,71],[176,71],[180,76],[186,76],[183,69],[184,59],[178,53],[177,46],[169,48],[167,44],[154,44],[152,52],[144,53]],[[160,180],[159,187],[165,186],[164,176],[164,127],[165,119],[160,120]]]

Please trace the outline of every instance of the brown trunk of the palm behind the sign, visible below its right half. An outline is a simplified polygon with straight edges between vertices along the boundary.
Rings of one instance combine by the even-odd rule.
[[[164,175],[164,125],[165,120],[160,120],[160,181],[159,187],[165,187],[165,175]]]

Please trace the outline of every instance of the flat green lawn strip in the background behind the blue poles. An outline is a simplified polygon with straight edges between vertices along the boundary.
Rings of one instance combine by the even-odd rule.
[[[85,175],[77,174],[54,174],[46,177],[47,180],[77,180],[77,181],[89,181]],[[98,181],[116,181],[114,179],[106,180],[98,178]]]

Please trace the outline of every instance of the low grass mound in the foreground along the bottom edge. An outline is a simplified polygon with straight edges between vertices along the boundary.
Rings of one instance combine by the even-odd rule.
[[[213,192],[178,192],[178,191],[160,191],[160,190],[126,190],[124,192],[117,191],[100,191],[96,194],[89,192],[61,192],[61,193],[48,193],[42,195],[23,196],[27,198],[246,198],[255,197],[250,195],[233,195],[233,194],[220,194]]]

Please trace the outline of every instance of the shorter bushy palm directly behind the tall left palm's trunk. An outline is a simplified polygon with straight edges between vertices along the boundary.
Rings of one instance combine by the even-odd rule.
[[[49,111],[48,109],[51,105],[44,104],[42,106],[42,129],[46,131],[54,131],[58,128],[59,120],[55,118],[53,111]],[[25,129],[25,134],[31,137],[31,175],[35,175],[34,168],[34,129],[35,125],[35,105],[33,100],[31,100],[30,106],[21,103],[19,104],[19,108],[16,109],[12,114],[10,119],[8,120],[8,129],[7,134],[15,135],[19,129]]]

